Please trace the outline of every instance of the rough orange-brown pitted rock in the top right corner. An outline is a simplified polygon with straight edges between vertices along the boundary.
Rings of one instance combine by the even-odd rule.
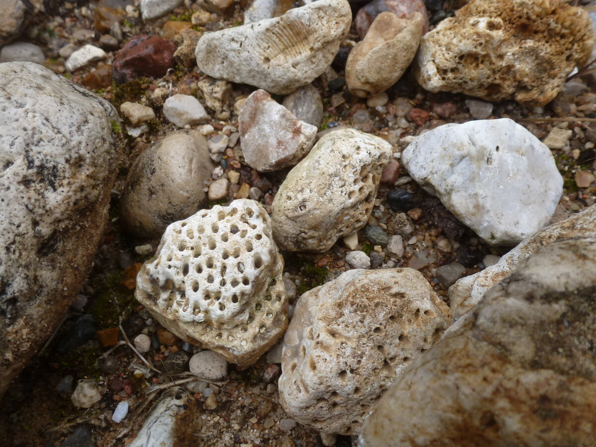
[[[588,13],[560,0],[476,0],[423,36],[415,74],[431,92],[545,105],[595,36]]]

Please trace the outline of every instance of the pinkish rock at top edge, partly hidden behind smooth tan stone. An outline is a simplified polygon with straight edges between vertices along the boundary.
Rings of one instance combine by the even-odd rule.
[[[378,15],[389,11],[398,18],[411,18],[414,12],[422,15],[423,33],[429,32],[429,17],[422,0],[373,0],[358,10],[354,26],[362,41]]]

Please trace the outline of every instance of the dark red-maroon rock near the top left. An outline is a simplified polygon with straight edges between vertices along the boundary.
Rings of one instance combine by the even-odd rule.
[[[141,76],[162,77],[174,66],[175,51],[173,42],[159,36],[135,36],[114,57],[112,77],[117,84]]]

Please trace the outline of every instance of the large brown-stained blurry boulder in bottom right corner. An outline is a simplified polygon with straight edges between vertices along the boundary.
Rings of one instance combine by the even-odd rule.
[[[595,287],[596,239],[537,251],[412,362],[359,446],[592,445]]]

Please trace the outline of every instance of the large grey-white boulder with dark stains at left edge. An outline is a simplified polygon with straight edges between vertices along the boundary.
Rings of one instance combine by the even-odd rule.
[[[0,64],[0,395],[79,292],[115,169],[103,99],[30,62]]]

